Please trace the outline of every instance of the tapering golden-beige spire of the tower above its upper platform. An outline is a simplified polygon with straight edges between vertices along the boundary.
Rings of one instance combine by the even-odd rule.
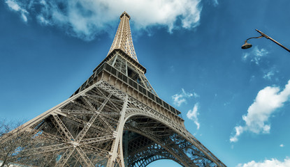
[[[133,58],[135,61],[138,62],[136,52],[133,46],[132,35],[131,35],[131,29],[130,29],[130,23],[129,23],[130,16],[128,15],[128,13],[124,12],[122,13],[122,15],[120,15],[119,19],[121,21],[119,22],[117,33],[115,35],[113,44],[110,47],[110,51],[108,55],[114,49],[121,49],[126,54],[131,56],[131,58]]]

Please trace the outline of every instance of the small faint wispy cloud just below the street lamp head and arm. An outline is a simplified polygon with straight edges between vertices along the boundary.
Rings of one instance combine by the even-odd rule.
[[[256,65],[259,65],[259,62],[261,61],[261,58],[263,56],[266,56],[269,52],[266,49],[259,49],[257,46],[252,49],[250,52],[246,52],[242,55],[242,59],[244,61],[249,61],[255,63]]]

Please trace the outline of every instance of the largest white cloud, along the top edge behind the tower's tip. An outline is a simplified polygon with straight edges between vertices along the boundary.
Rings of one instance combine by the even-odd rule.
[[[136,29],[147,29],[149,26],[164,26],[169,32],[180,28],[193,29],[199,24],[202,10],[200,2],[201,0],[6,0],[9,8],[18,11],[24,21],[27,22],[27,15],[31,13],[41,24],[59,26],[66,33],[84,40],[92,40],[104,31],[115,31],[119,15],[124,10],[131,15]]]

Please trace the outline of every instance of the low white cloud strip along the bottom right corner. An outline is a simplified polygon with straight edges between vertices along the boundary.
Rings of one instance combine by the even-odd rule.
[[[238,164],[237,167],[290,167],[290,158],[287,157],[284,161],[277,159],[266,159],[263,162],[250,161],[247,164]]]

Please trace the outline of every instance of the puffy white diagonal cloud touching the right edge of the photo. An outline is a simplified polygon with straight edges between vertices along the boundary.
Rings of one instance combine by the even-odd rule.
[[[260,90],[254,103],[249,106],[247,115],[242,116],[245,126],[236,126],[235,135],[231,136],[230,141],[238,141],[238,136],[243,132],[253,132],[255,134],[270,133],[270,116],[282,107],[284,102],[289,100],[289,96],[290,80],[282,91],[280,91],[279,87],[275,86],[267,86]]]

